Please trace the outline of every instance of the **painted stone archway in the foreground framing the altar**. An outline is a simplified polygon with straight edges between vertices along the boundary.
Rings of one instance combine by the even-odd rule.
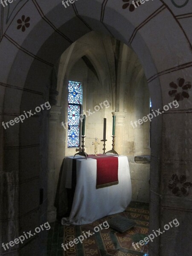
[[[60,0],[14,1],[10,8],[1,6],[0,122],[46,102],[58,58],[92,30],[112,35],[134,49],[145,70],[153,108],[162,110],[174,99],[169,95],[171,82],[177,83],[178,78],[192,81],[191,17],[187,15],[192,3],[178,9],[169,2],[148,1],[133,12],[116,0],[79,0],[67,9]],[[19,29],[19,19],[30,23],[25,31]],[[175,255],[176,251],[188,255],[190,251],[192,191],[187,188],[186,193],[177,194],[168,187],[174,174],[192,182],[192,92],[187,93],[189,97],[180,99],[179,108],[152,123],[149,233],[163,229],[174,218],[180,226],[157,237],[149,246],[150,256]],[[12,241],[46,222],[47,123],[48,111],[44,111],[22,124],[0,128],[0,242]],[[40,188],[44,189],[41,205]],[[182,244],[181,236],[186,237]],[[6,255],[45,255],[45,239],[40,233]]]

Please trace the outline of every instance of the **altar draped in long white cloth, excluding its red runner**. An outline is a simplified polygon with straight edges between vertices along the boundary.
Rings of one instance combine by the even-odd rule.
[[[92,223],[107,215],[122,212],[131,202],[131,178],[126,156],[118,158],[118,184],[96,189],[97,160],[76,156],[76,171],[73,156],[66,157],[60,180],[63,186],[74,191],[70,215],[62,218],[63,225]],[[110,169],[108,169],[110,175]],[[74,187],[75,183],[75,187]]]

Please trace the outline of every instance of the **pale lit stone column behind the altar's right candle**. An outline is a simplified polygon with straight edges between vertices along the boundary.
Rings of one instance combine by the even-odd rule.
[[[125,112],[112,112],[115,118],[115,151],[118,154],[124,153],[124,120],[126,113]]]

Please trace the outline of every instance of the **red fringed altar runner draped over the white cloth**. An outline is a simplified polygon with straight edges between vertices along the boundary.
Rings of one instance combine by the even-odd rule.
[[[118,157],[98,154],[89,155],[88,158],[97,160],[96,189],[119,184],[118,180]]]

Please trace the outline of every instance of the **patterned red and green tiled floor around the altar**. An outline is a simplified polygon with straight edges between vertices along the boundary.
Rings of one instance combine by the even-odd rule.
[[[76,248],[73,248],[73,252],[66,251],[64,253],[61,247],[64,239],[66,240],[69,236],[76,237],[77,234],[81,234],[82,230],[91,230],[104,220],[112,218],[112,216],[95,221],[93,224],[82,226],[71,225],[64,228],[59,222],[50,224],[51,229],[48,233],[47,256],[84,256],[84,252],[86,252],[86,256],[148,256],[147,244],[144,247],[140,247],[138,251],[133,250],[134,248],[131,245],[133,241],[140,241],[148,235],[148,204],[132,201],[125,212],[119,213],[119,215],[136,221],[136,226],[122,234],[110,229],[102,230],[101,233],[97,233],[98,236],[95,236],[89,242],[84,241],[83,244],[79,244]],[[91,242],[92,245],[88,245],[87,242]]]

